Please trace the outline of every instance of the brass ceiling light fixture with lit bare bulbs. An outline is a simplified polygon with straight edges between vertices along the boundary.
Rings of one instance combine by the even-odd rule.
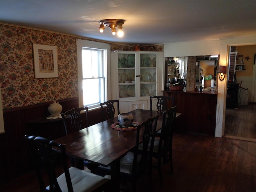
[[[117,32],[117,35],[118,37],[122,37],[124,36],[124,32],[122,30],[123,28],[123,24],[124,24],[125,20],[123,19],[104,19],[104,20],[100,20],[99,23],[100,23],[100,32],[103,33],[104,30],[105,30],[105,27],[104,26],[107,26],[111,29],[111,32],[113,35],[116,34],[116,27],[118,27],[118,32]]]

